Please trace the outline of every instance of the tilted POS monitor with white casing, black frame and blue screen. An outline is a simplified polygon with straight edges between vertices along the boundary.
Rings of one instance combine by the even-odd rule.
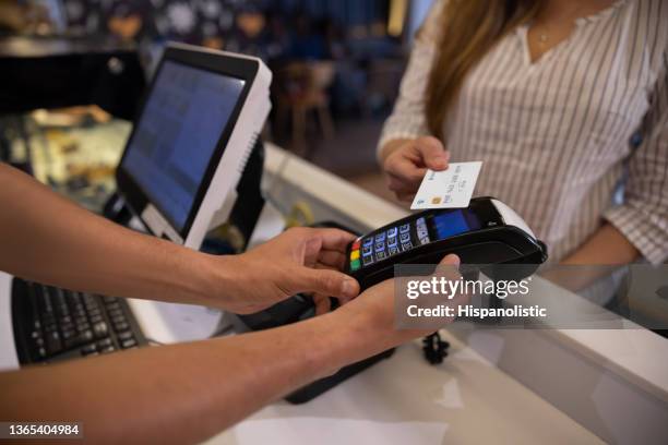
[[[271,109],[271,79],[257,58],[166,48],[116,173],[153,234],[199,249],[227,220]]]

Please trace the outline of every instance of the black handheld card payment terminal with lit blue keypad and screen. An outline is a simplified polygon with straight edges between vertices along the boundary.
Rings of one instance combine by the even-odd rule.
[[[361,289],[392,278],[395,264],[438,264],[449,253],[463,264],[538,265],[547,260],[546,245],[527,224],[493,197],[473,199],[466,208],[410,215],[357,238],[346,253],[345,272]]]

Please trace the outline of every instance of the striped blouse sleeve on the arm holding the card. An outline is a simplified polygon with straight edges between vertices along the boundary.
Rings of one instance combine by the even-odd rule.
[[[411,139],[429,134],[425,116],[425,88],[436,55],[439,16],[446,0],[434,3],[417,34],[408,67],[402,79],[394,110],[387,118],[378,143],[378,152],[389,141]]]

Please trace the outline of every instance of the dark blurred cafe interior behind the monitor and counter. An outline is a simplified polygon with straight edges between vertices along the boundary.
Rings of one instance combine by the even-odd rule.
[[[261,57],[264,139],[392,200],[375,144],[431,2],[0,0],[0,160],[95,209],[162,49],[182,41]]]

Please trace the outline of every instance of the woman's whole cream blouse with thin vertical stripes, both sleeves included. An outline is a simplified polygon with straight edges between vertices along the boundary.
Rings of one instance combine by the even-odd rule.
[[[416,40],[379,147],[429,134],[424,94],[442,4]],[[646,260],[666,261],[668,1],[622,0],[578,19],[535,62],[527,29],[502,38],[465,80],[443,122],[451,161],[482,160],[475,195],[514,207],[552,261],[604,220]]]

